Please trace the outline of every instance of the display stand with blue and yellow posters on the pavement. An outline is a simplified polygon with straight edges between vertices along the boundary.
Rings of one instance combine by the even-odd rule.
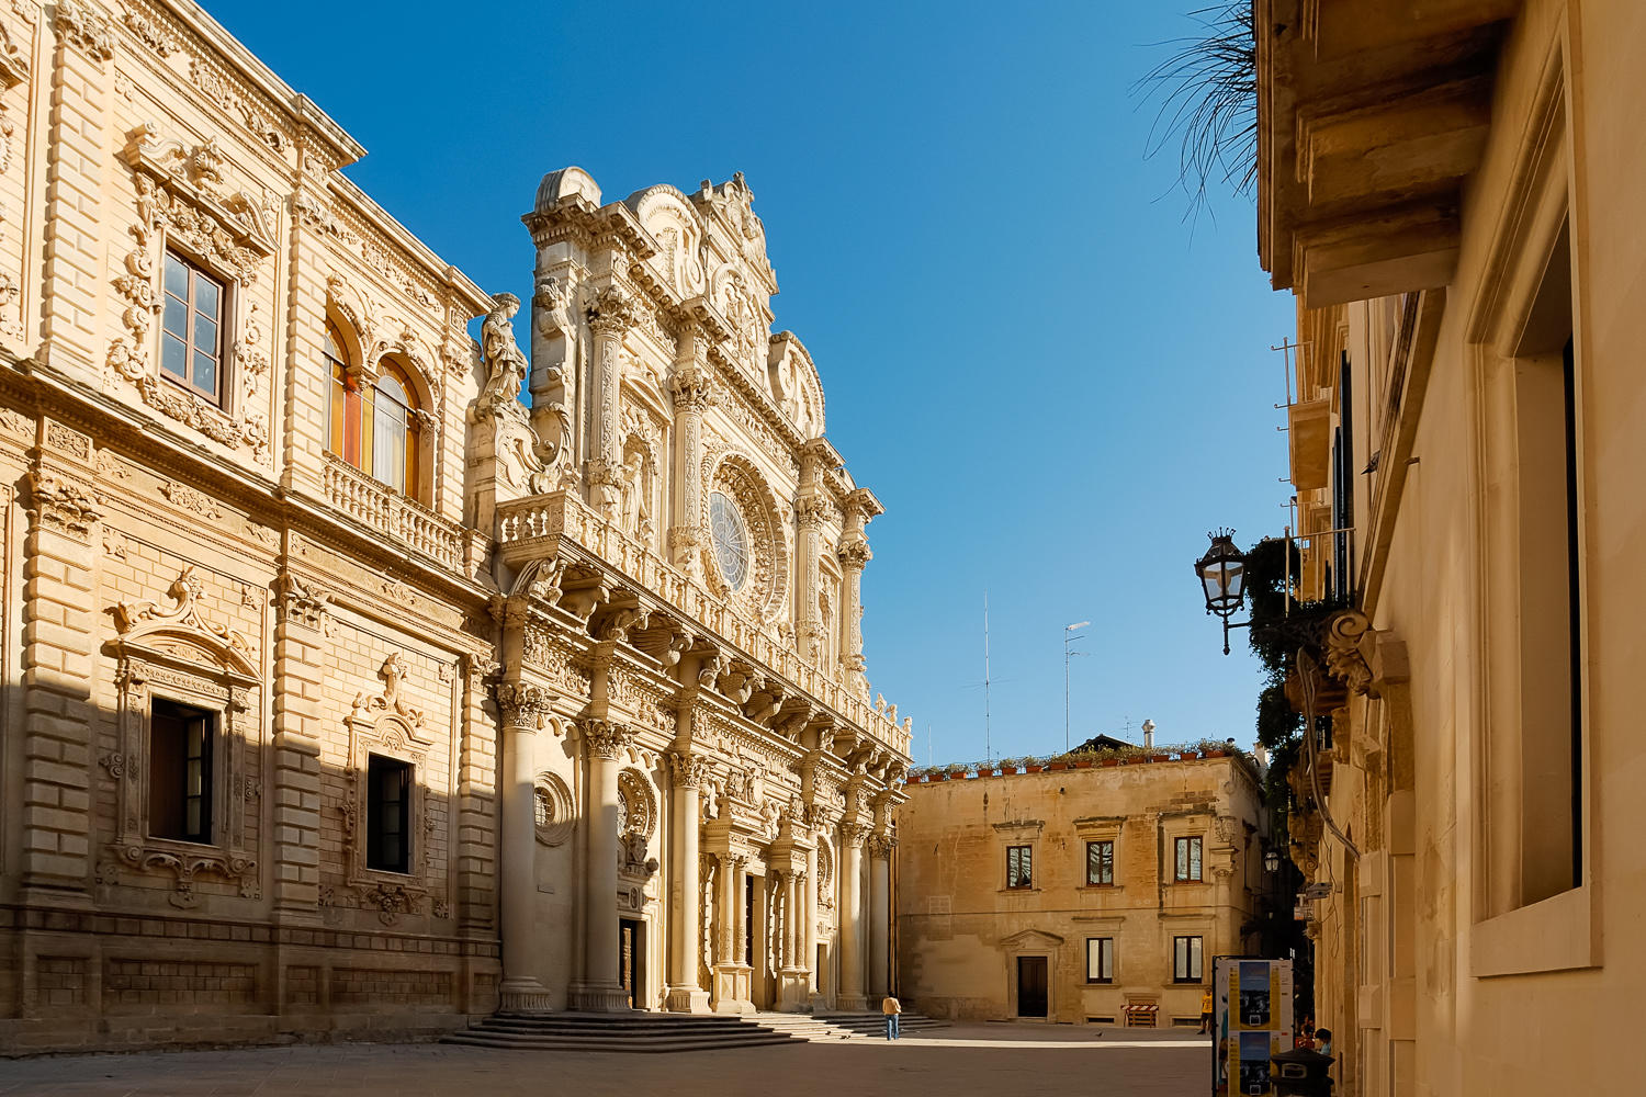
[[[1292,1049],[1292,962],[1211,960],[1211,1092],[1269,1097],[1269,1058]]]

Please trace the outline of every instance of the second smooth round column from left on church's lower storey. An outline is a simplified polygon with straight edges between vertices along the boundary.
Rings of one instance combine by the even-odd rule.
[[[583,924],[586,969],[573,987],[574,1010],[619,1013],[629,995],[617,977],[617,755],[630,743],[627,724],[583,720],[583,745],[589,758],[589,862],[584,877],[588,916]]]

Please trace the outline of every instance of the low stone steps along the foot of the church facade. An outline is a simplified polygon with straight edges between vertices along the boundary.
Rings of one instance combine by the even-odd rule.
[[[918,1013],[904,1013],[902,1031],[937,1028]],[[474,1048],[523,1051],[719,1051],[808,1041],[884,1036],[879,1013],[494,1013],[441,1039]]]

